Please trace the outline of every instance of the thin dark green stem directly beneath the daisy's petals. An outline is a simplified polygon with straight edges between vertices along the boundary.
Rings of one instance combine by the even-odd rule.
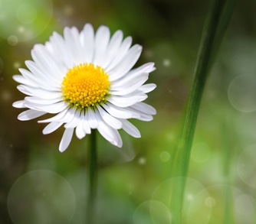
[[[90,144],[88,151],[88,183],[89,191],[87,196],[87,222],[88,224],[94,223],[95,215],[95,198],[97,195],[97,142],[96,130],[91,131]]]

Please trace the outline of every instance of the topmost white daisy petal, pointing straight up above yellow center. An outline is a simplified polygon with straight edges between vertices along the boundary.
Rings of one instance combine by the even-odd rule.
[[[94,58],[94,28],[91,24],[85,24],[80,34],[80,42],[84,51],[84,61],[91,63]]]

